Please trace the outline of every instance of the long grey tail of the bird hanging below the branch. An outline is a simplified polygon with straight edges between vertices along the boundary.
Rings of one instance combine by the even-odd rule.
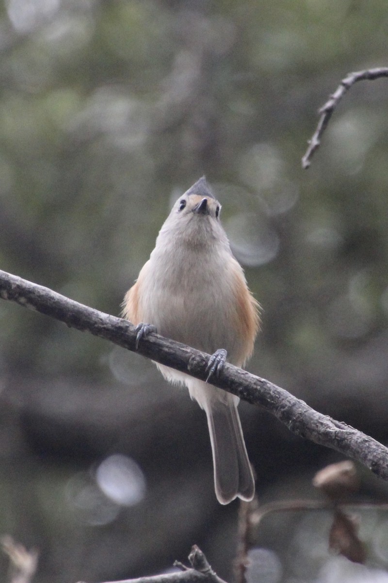
[[[198,380],[188,385],[191,397],[207,415],[218,501],[252,500],[255,482],[237,411],[239,398]]]

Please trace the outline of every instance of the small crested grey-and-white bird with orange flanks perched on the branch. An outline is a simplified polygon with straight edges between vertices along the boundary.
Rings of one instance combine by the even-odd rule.
[[[155,363],[172,383],[186,385],[204,409],[220,504],[252,500],[255,482],[237,405],[211,384],[225,362],[242,367],[251,356],[260,306],[248,289],[220,223],[221,205],[204,176],[181,195],[163,223],[155,248],[123,301],[136,343],[151,332],[211,354],[207,382]]]

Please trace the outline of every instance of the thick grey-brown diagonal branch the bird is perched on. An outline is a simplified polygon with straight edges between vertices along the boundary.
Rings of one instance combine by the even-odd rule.
[[[59,293],[0,271],[0,297],[49,315],[67,326],[111,340],[133,352],[205,381],[209,354],[158,334],[149,334],[136,350],[136,332],[130,322],[115,318]],[[311,409],[284,389],[232,364],[226,364],[212,384],[259,405],[277,417],[292,433],[339,451],[388,481],[388,449],[372,437]]]

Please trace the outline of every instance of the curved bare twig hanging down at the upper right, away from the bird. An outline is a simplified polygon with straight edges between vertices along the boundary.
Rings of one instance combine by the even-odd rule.
[[[348,73],[346,78],[341,81],[334,93],[330,95],[330,99],[326,101],[325,105],[321,107],[318,112],[321,114],[321,117],[319,118],[318,126],[316,127],[312,138],[308,141],[307,151],[302,157],[302,168],[308,168],[310,166],[311,158],[315,150],[321,145],[322,134],[329,123],[330,117],[332,117],[334,109],[337,107],[347,90],[350,89],[354,83],[357,83],[357,81],[365,79],[374,80],[381,77],[388,77],[388,67],[378,67],[376,69],[365,69],[365,71]]]

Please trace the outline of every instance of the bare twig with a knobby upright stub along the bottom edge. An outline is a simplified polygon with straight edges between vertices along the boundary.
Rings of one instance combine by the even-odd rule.
[[[212,570],[207,558],[201,549],[194,545],[188,555],[191,568],[176,573],[154,575],[153,577],[139,577],[138,579],[125,579],[114,583],[225,583],[223,579]],[[79,582],[81,583],[81,582]],[[109,581],[106,583],[113,583]]]

